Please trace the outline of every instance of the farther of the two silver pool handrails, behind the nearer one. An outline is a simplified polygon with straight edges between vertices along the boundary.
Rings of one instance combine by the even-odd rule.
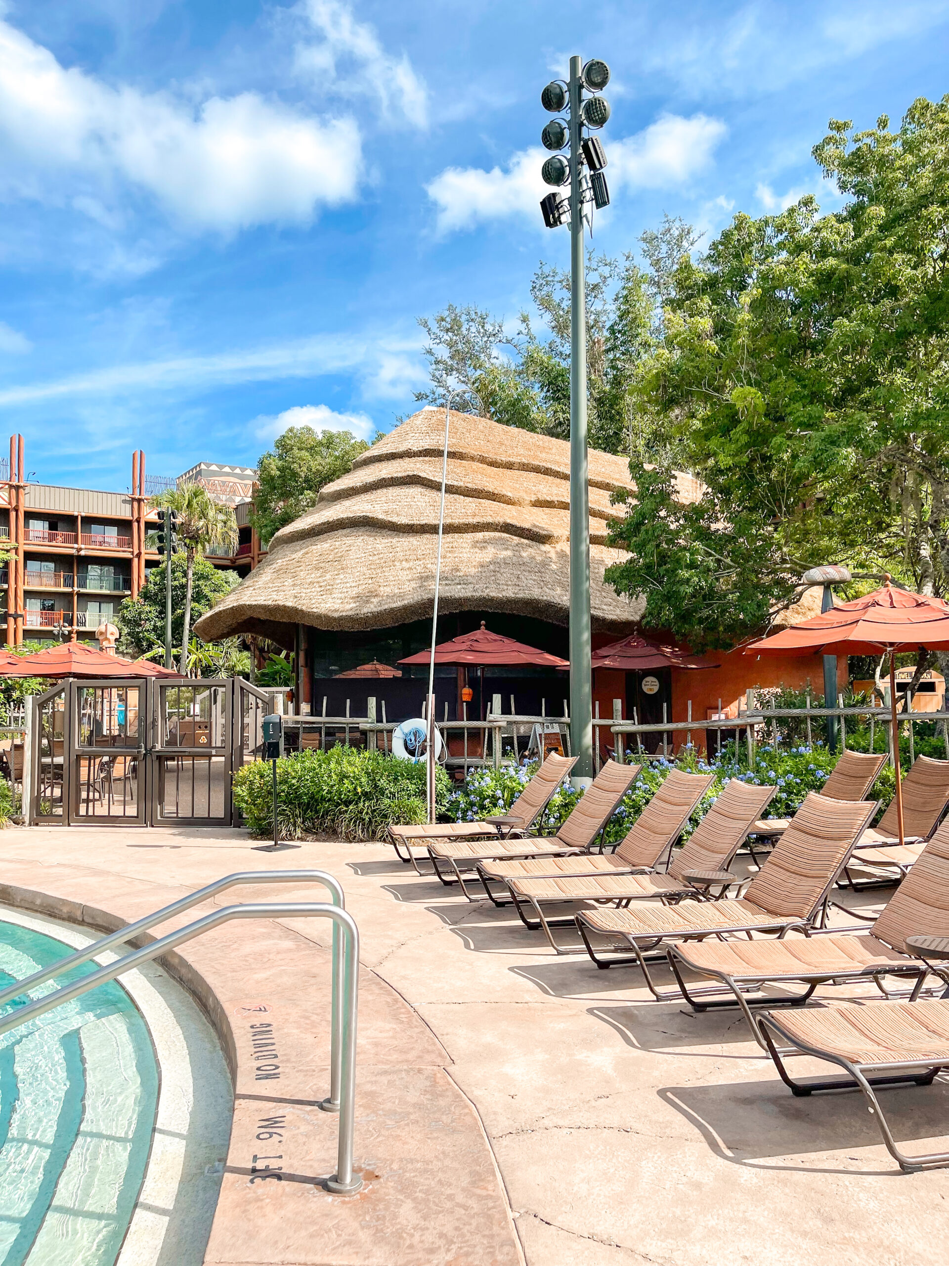
[[[47,980],[52,980],[54,976],[61,976],[65,971],[71,967],[78,967],[84,962],[89,962],[90,958],[95,958],[96,955],[102,953],[114,944],[121,944],[125,941],[130,941],[133,937],[138,936],[139,932],[146,932],[148,928],[153,928],[156,923],[164,923],[175,914],[181,914],[182,910],[191,909],[192,905],[200,905],[201,901],[206,901],[210,896],[216,893],[224,891],[226,887],[234,887],[238,884],[297,884],[297,882],[315,882],[323,884],[328,887],[332,894],[333,905],[338,905],[340,910],[345,909],[345,898],[343,896],[343,889],[339,880],[334,879],[326,871],[316,870],[294,870],[294,871],[234,871],[233,875],[225,875],[223,879],[216,879],[213,884],[208,884],[205,887],[199,887],[195,893],[189,894],[189,896],[181,896],[177,901],[172,901],[171,905],[163,905],[161,910],[156,910],[153,914],[146,914],[144,918],[137,919],[134,923],[127,923],[124,928],[119,928],[118,932],[111,932],[108,937],[102,937],[100,941],[94,941],[91,944],[85,946],[82,950],[77,950],[75,953],[67,955],[65,958],[57,960],[49,967],[43,967],[39,971],[34,971],[32,976],[24,976],[23,980],[14,981],[13,985],[8,985],[5,989],[0,989],[0,1006],[4,1003],[9,1003],[11,998],[19,998],[20,994],[28,993],[30,989],[35,989],[37,985],[46,984]],[[343,962],[339,956],[339,928],[333,924],[333,1048],[330,1051],[330,1086],[329,1086],[329,1099],[324,1099],[320,1104],[324,1112],[339,1112],[339,1081],[342,1075],[342,1051],[339,1048],[338,1034],[343,1029],[340,1006],[343,996]]]

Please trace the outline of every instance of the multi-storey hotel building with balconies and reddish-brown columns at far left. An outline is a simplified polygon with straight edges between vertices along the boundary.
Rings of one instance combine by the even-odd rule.
[[[177,480],[146,475],[146,456],[132,458],[130,491],[27,482],[23,437],[10,439],[0,460],[0,619],[6,642],[94,638],[113,620],[124,598],[134,598],[162,556],[152,533],[157,515],[148,499],[186,481],[200,481],[234,506],[239,542],[234,553],[209,551],[216,566],[247,575],[264,551],[251,527],[256,471],[202,462]]]

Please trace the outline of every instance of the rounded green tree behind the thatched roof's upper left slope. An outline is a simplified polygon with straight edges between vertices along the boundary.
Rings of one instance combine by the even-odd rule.
[[[348,430],[287,427],[257,463],[252,523],[267,544],[287,523],[316,505],[324,484],[345,475],[369,446]]]

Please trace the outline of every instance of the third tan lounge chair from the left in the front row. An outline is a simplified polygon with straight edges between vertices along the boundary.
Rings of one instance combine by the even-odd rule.
[[[510,889],[514,880],[535,879],[553,876],[582,876],[582,875],[629,875],[631,871],[655,870],[659,860],[672,849],[678,837],[685,830],[692,812],[714,781],[714,775],[685,774],[682,770],[671,770],[659,789],[644,806],[636,820],[626,832],[624,839],[616,846],[612,853],[590,855],[580,857],[525,857],[520,861],[488,861],[481,862],[477,867],[485,891],[495,905],[510,905],[518,903],[516,894]],[[753,789],[754,791],[759,789]],[[754,796],[754,801],[766,805],[774,795],[774,789],[768,790],[767,796]],[[730,798],[730,803],[731,803]],[[723,810],[724,813],[724,810]],[[760,808],[757,810],[760,813]],[[755,814],[748,822],[753,820]],[[748,824],[745,824],[745,830]],[[743,836],[744,838],[744,836]],[[738,847],[738,846],[735,846]],[[705,865],[705,858],[700,860],[696,852],[690,865]],[[721,870],[721,867],[719,867]],[[504,884],[507,889],[507,899],[499,900],[491,891],[491,882]],[[671,889],[674,881],[669,881]],[[523,918],[523,912],[521,918]],[[571,920],[572,922],[572,920]],[[537,928],[537,923],[528,927]]]

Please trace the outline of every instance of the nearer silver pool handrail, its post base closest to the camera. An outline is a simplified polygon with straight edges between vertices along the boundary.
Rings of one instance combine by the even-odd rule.
[[[75,981],[72,985],[65,985],[62,989],[57,989],[54,993],[47,994],[46,998],[38,998],[35,1001],[28,1003],[25,1006],[11,1012],[9,1015],[0,1017],[0,1036],[9,1033],[11,1029],[19,1028],[22,1024],[27,1024],[29,1020],[44,1015],[47,1012],[61,1006],[63,1003],[72,1001],[73,998],[87,994],[97,985],[104,985],[109,980],[115,980],[116,976],[120,976],[127,971],[132,971],[143,962],[149,962],[152,958],[161,957],[161,955],[166,953],[168,950],[173,950],[175,946],[178,946],[185,941],[191,941],[202,932],[210,932],[211,928],[216,928],[221,923],[229,923],[230,919],[304,918],[332,919],[334,931],[340,929],[343,933],[343,972],[340,989],[342,1014],[339,1017],[333,1017],[333,1047],[340,1053],[339,1146],[337,1152],[337,1172],[332,1179],[326,1180],[326,1186],[330,1191],[350,1195],[353,1191],[358,1191],[362,1186],[362,1179],[358,1175],[353,1175],[359,931],[356,927],[353,917],[338,905],[328,905],[319,901],[276,901],[272,904],[266,904],[263,901],[248,901],[245,905],[225,905],[220,910],[214,910],[211,914],[205,914],[202,918],[195,919],[194,923],[189,923],[186,927],[178,928],[177,932],[170,932],[158,941],[153,941],[151,944],[143,946],[140,950],[134,950],[132,953],[127,953],[124,957],[116,960],[116,962],[111,962],[105,967],[99,967],[97,971],[90,972],[87,976]],[[128,933],[128,928],[124,931]],[[337,1027],[337,1019],[339,1019],[339,1028]]]

